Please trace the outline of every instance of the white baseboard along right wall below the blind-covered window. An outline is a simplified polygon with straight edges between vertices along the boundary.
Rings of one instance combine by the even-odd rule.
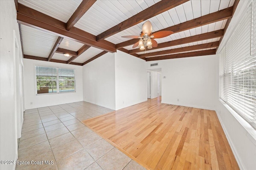
[[[219,121],[220,121],[220,125],[222,126],[222,129],[224,130],[224,133],[225,133],[225,135],[226,135],[226,137],[227,137],[227,139],[228,139],[228,143],[229,143],[229,145],[230,145],[230,147],[231,147],[231,150],[232,150],[232,152],[233,152],[233,154],[234,154],[234,156],[235,156],[235,158],[236,158],[236,162],[237,162],[239,168],[240,168],[241,170],[246,170],[246,168],[244,167],[244,164],[241,162],[241,159],[240,159],[240,157],[239,157],[239,155],[238,155],[238,153],[237,153],[237,151],[236,151],[236,147],[234,147],[234,144],[232,143],[232,140],[230,139],[230,136],[228,135],[228,132],[226,131],[226,127],[225,127],[224,124],[222,123],[222,119],[220,119],[220,114],[218,113],[217,110],[215,110],[215,111],[216,111],[216,114],[217,114],[218,119],[219,119]]]

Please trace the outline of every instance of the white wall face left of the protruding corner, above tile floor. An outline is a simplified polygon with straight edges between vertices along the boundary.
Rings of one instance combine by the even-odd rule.
[[[83,66],[84,101],[116,109],[115,57],[106,53]]]

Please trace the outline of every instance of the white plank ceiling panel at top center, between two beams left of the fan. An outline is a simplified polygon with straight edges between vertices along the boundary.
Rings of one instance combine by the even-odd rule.
[[[99,35],[157,2],[159,1],[97,0],[74,27]]]

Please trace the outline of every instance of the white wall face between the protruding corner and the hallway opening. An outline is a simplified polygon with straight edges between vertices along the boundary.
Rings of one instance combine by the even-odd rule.
[[[147,100],[146,61],[115,53],[116,110]]]

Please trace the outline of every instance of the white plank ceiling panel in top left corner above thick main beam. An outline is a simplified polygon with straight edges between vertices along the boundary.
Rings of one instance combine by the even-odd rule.
[[[18,0],[18,2],[66,23],[82,0]]]

